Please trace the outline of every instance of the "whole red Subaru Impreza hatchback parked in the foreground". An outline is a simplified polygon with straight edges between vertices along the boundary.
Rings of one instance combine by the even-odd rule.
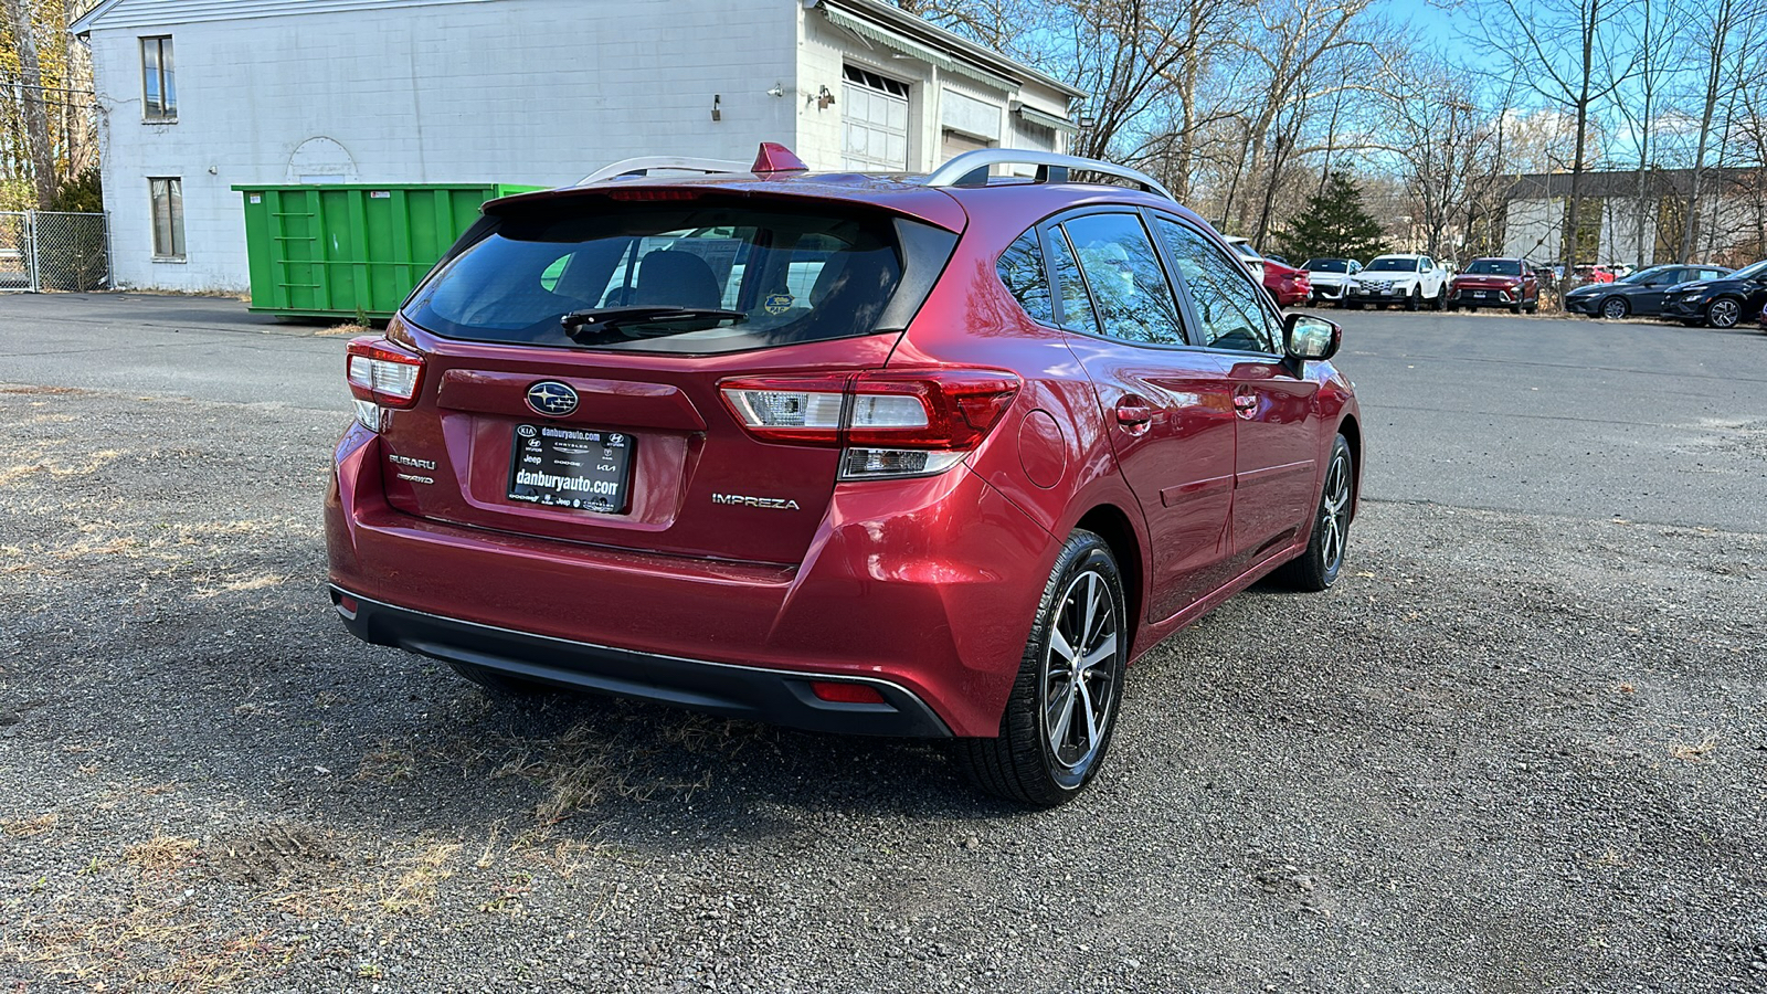
[[[1338,341],[1087,159],[765,147],[497,200],[348,347],[332,601],[491,688],[954,738],[982,789],[1055,805],[1136,656],[1270,571],[1338,578]]]

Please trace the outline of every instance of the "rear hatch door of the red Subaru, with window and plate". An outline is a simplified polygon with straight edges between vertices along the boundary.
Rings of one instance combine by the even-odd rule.
[[[509,202],[413,294],[389,338],[426,368],[383,426],[387,499],[541,539],[799,562],[841,453],[756,439],[719,384],[882,368],[956,235],[864,203],[622,193]]]

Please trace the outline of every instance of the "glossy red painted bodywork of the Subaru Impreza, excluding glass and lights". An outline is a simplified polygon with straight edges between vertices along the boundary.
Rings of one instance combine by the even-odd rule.
[[[1012,239],[1074,207],[1134,205],[1209,230],[1168,200],[852,177],[659,186],[694,184],[864,202],[961,239],[901,333],[668,356],[470,343],[394,320],[387,336],[426,368],[412,410],[337,444],[325,524],[339,591],[661,656],[876,677],[952,734],[995,736],[1058,547],[1081,522],[1129,577],[1133,658],[1306,547],[1338,432],[1361,469],[1355,398],[1329,363],[1053,329],[997,276]],[[762,442],[717,394],[730,377],[880,368],[1000,370],[1021,386],[954,469],[850,483],[836,483],[838,447]],[[504,497],[511,430],[535,417],[523,396],[541,378],[583,398],[560,424],[638,440],[627,513]],[[1140,426],[1115,417],[1126,400],[1147,409]],[[795,509],[712,502],[728,492]]]

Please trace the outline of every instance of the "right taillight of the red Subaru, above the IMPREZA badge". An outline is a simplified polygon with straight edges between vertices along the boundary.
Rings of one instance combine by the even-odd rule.
[[[889,370],[719,384],[730,412],[755,437],[843,447],[841,479],[951,469],[988,437],[1018,387],[1018,377],[998,370]]]

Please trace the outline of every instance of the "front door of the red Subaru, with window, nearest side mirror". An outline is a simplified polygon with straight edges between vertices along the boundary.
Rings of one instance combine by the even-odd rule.
[[[1226,364],[1233,391],[1235,570],[1283,548],[1309,520],[1318,476],[1318,384],[1283,361],[1283,325],[1267,294],[1214,239],[1157,214],[1154,226],[1182,278],[1196,334]]]

